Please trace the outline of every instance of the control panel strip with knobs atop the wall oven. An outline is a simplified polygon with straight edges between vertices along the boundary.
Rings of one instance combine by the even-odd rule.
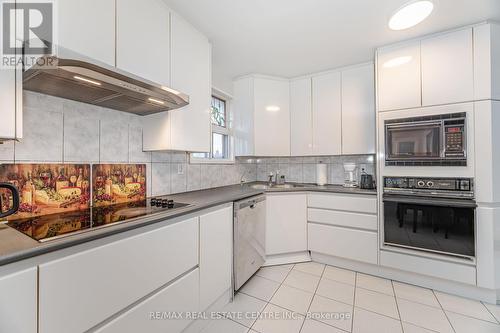
[[[471,178],[384,177],[386,189],[471,192],[472,185]]]

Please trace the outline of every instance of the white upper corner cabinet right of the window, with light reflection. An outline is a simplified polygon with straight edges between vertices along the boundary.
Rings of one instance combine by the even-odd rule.
[[[290,156],[289,81],[247,76],[234,82],[233,93],[236,154]]]

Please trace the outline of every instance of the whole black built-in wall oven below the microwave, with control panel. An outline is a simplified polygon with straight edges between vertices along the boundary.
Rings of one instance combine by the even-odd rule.
[[[384,177],[384,246],[475,257],[471,178]]]

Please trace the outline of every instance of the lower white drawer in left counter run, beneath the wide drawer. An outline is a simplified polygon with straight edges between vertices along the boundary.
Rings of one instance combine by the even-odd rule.
[[[99,329],[98,333],[177,333],[189,325],[191,320],[179,318],[151,318],[151,313],[197,312],[199,303],[199,269],[175,281],[172,285],[146,299],[120,317]],[[97,333],[96,332],[96,333]]]

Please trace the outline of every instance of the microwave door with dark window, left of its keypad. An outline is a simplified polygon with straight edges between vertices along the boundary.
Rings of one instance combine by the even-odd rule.
[[[386,124],[386,160],[441,159],[442,136],[441,121]]]

